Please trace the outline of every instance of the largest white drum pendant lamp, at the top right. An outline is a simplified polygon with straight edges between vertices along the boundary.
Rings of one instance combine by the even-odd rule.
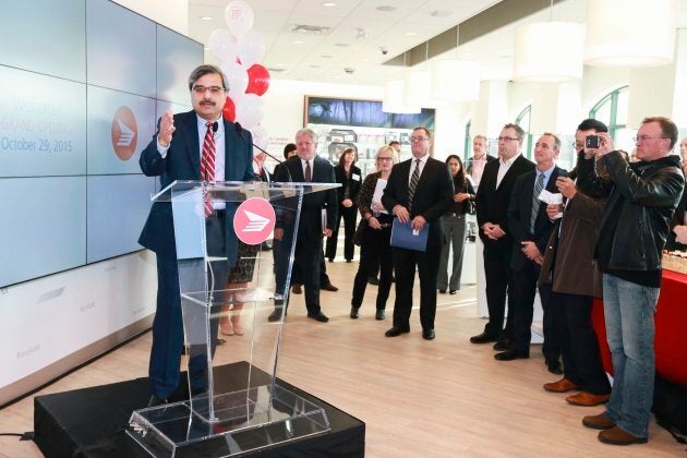
[[[673,62],[676,16],[676,0],[588,0],[584,63],[652,67]]]

